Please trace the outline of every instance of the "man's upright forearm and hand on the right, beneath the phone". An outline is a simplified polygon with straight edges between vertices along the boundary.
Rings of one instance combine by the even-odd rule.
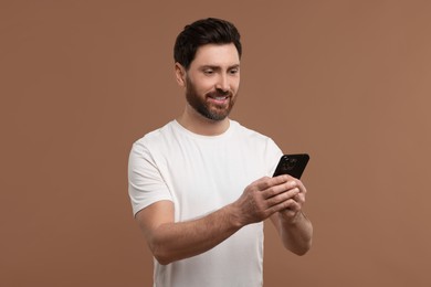
[[[291,177],[288,189],[298,193],[286,201],[286,209],[271,216],[285,248],[297,255],[304,255],[312,247],[313,225],[302,208],[305,203],[306,189],[303,183]]]

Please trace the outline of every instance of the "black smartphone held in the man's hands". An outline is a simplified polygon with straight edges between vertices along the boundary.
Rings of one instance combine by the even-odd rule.
[[[309,156],[307,153],[284,155],[280,159],[273,177],[290,174],[296,179],[301,179],[308,160]]]

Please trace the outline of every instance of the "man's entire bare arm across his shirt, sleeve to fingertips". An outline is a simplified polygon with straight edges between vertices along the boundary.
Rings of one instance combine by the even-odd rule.
[[[174,222],[170,201],[145,208],[136,214],[136,220],[153,255],[160,264],[169,264],[207,252],[242,226],[286,209],[286,200],[297,191],[286,191],[285,182],[283,177],[262,178],[246,187],[235,202],[196,220]]]

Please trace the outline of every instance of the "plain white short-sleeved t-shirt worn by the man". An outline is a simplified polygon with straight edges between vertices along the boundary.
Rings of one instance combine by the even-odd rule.
[[[133,212],[169,200],[176,222],[203,216],[235,201],[251,182],[272,176],[281,156],[272,139],[234,120],[224,134],[211,137],[172,120],[133,145]],[[203,254],[168,265],[154,263],[157,287],[262,286],[263,223],[242,227]]]

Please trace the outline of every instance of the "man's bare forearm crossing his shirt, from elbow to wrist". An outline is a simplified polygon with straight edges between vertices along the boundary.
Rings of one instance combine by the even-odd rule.
[[[227,205],[197,220],[164,223],[148,243],[156,259],[169,264],[211,249],[241,227],[234,209]]]

